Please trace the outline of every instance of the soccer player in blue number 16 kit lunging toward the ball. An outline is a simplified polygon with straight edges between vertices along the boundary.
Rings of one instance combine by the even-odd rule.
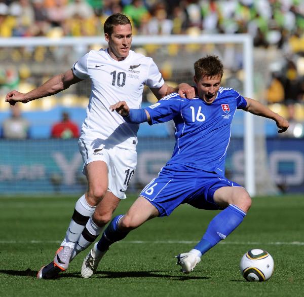
[[[259,102],[242,97],[231,88],[220,87],[223,65],[207,56],[194,64],[197,97],[181,98],[172,93],[145,109],[130,109],[125,101],[112,106],[129,123],[149,124],[173,120],[175,147],[158,177],[146,185],[125,215],[112,219],[98,243],[84,259],[82,276],[90,277],[109,246],[156,216],[168,216],[180,204],[196,208],[223,209],[210,221],[200,242],[189,252],[177,255],[183,273],[191,272],[201,256],[225,239],[243,221],[251,198],[238,183],[224,176],[226,150],[236,109],[273,119],[279,133],[289,123]]]

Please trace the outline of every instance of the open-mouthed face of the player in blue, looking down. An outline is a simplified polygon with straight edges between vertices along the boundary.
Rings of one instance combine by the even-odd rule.
[[[199,80],[194,77],[194,81],[197,86],[199,97],[202,98],[207,104],[211,104],[215,100],[218,89],[220,87],[221,76],[205,76]]]

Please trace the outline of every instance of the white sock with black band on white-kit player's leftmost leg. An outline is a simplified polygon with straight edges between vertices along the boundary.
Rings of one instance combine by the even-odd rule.
[[[85,229],[87,221],[93,215],[95,208],[95,206],[91,206],[87,202],[85,195],[78,199],[61,246],[74,247],[75,242],[78,241],[81,233]]]

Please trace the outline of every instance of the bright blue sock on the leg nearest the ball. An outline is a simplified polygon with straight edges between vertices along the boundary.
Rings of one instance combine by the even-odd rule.
[[[202,240],[194,248],[204,254],[233,232],[241,224],[245,215],[242,209],[230,204],[210,221]]]

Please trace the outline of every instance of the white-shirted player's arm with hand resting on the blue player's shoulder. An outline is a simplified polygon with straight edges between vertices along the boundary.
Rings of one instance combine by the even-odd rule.
[[[163,97],[174,92],[178,93],[181,98],[195,98],[195,88],[186,83],[181,83],[177,85],[176,88],[170,87],[165,83],[161,88],[151,88],[151,91],[158,99],[162,99]]]

